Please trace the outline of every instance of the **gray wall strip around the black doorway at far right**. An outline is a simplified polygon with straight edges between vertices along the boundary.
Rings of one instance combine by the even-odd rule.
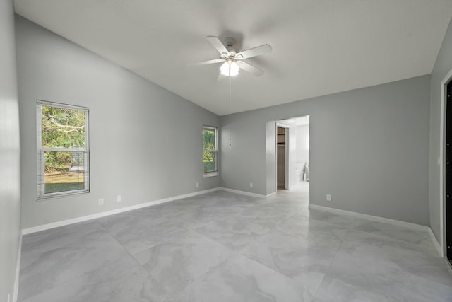
[[[430,197],[430,226],[436,239],[440,236],[440,192],[439,192],[439,128],[441,118],[441,81],[452,69],[452,22],[449,23],[441,50],[432,71],[430,82],[430,172],[429,172],[429,197]]]

